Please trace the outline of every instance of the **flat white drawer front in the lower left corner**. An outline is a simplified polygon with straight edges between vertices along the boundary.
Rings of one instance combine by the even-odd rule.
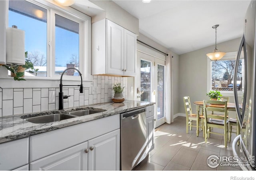
[[[28,138],[0,144],[0,170],[12,170],[28,164]]]

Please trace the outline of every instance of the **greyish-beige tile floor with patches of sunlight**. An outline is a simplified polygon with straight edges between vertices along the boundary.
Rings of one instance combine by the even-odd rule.
[[[217,132],[219,129],[215,128]],[[240,170],[239,167],[218,166],[210,168],[206,160],[210,155],[233,156],[232,141],[224,147],[224,136],[211,134],[204,143],[202,131],[196,136],[195,128],[186,134],[186,118],[177,117],[171,124],[163,124],[155,129],[154,150],[133,170]]]

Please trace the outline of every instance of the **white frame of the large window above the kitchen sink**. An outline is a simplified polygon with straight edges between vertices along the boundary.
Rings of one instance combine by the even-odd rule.
[[[60,75],[55,75],[55,14],[68,18],[79,23],[79,70],[82,73],[83,81],[92,81],[91,75],[91,17],[73,8],[60,6],[55,1],[26,0],[37,6],[45,8],[47,16],[47,77],[26,77],[26,80],[59,80]],[[8,3],[6,6],[6,16],[8,17]],[[8,27],[8,18],[6,19]],[[7,77],[1,77],[7,78]],[[11,78],[11,77],[8,77]],[[79,76],[65,76],[65,80],[80,81]]]

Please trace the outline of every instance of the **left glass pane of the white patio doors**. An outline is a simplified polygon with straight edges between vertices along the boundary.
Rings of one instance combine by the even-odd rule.
[[[151,101],[151,70],[152,64],[140,60],[140,100]]]

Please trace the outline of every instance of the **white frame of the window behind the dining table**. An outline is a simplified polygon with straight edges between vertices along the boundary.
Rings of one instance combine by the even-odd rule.
[[[229,60],[229,59],[236,59],[236,51],[234,52],[227,52],[225,56],[222,58],[222,60]],[[207,92],[209,92],[212,89],[212,66],[211,62],[213,60],[210,60],[210,58],[207,57]],[[233,91],[220,91],[222,96],[234,96]],[[242,97],[244,92],[238,91],[238,96]]]

